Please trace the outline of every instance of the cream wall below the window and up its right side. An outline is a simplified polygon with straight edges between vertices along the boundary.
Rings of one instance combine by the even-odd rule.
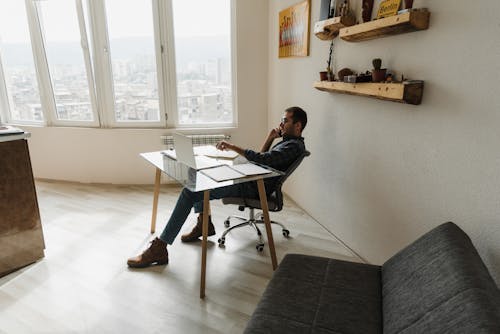
[[[236,129],[193,133],[229,133],[232,141],[260,148],[267,132],[267,33],[265,0],[236,2]],[[25,127],[35,177],[95,183],[147,184],[154,169],[139,153],[162,149],[165,129],[89,129]]]

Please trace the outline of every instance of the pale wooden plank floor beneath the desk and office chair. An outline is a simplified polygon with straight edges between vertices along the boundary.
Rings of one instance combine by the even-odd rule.
[[[176,241],[170,263],[132,270],[149,233],[152,186],[37,181],[45,258],[0,278],[0,333],[241,333],[271,278],[268,248],[255,249],[250,228],[228,235],[226,247],[209,237],[206,298],[199,298],[200,243]],[[180,188],[164,186],[158,231]],[[212,202],[217,235],[235,207]],[[271,219],[278,263],[286,253],[361,262],[288,198]],[[188,231],[194,214],[183,227]]]

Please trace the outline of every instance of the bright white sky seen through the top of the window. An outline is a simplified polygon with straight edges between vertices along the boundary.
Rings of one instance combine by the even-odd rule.
[[[160,1],[172,2],[177,37],[227,35],[229,31],[229,15],[224,20],[219,13],[230,10],[231,0]],[[75,1],[42,0],[40,4],[50,40],[75,41],[75,36],[78,36]],[[152,34],[151,0],[106,0],[106,9],[110,15],[110,36],[119,38]],[[57,19],[52,19],[54,17]],[[28,36],[26,22],[23,0],[0,0],[0,40],[3,43],[25,42]]]

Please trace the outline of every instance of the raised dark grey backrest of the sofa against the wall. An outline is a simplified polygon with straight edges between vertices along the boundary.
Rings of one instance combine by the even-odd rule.
[[[445,223],[382,266],[384,333],[500,333],[498,288],[469,237]]]

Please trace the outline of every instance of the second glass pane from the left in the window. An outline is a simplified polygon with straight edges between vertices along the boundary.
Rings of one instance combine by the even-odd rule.
[[[38,2],[59,120],[93,121],[75,1]]]

